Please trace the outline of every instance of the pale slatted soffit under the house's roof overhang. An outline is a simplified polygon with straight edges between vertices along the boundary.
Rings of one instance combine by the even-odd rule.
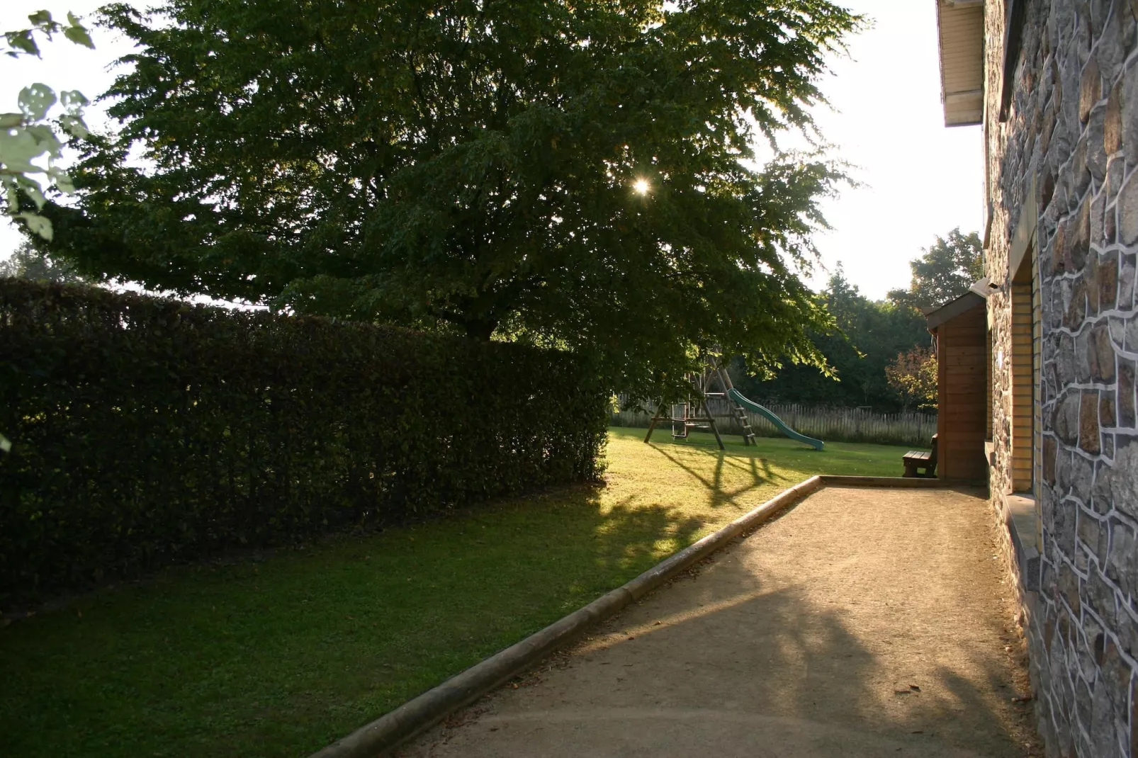
[[[980,124],[984,118],[983,0],[935,2],[945,125]]]

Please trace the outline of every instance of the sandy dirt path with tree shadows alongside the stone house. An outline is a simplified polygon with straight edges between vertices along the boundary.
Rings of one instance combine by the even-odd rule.
[[[1041,755],[990,524],[824,489],[399,755]]]

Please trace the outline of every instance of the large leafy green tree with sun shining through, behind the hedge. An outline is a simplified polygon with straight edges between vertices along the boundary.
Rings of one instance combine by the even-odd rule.
[[[810,132],[825,0],[165,0],[52,252],[148,288],[600,353],[818,361],[798,273],[840,179]],[[141,160],[139,160],[141,159]]]

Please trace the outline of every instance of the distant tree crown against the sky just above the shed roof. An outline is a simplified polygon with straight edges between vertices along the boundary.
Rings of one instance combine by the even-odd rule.
[[[982,255],[983,244],[976,232],[962,234],[957,226],[947,238],[938,236],[931,247],[909,263],[913,269],[909,288],[890,291],[889,299],[918,310],[943,305],[964,295],[984,275]]]

